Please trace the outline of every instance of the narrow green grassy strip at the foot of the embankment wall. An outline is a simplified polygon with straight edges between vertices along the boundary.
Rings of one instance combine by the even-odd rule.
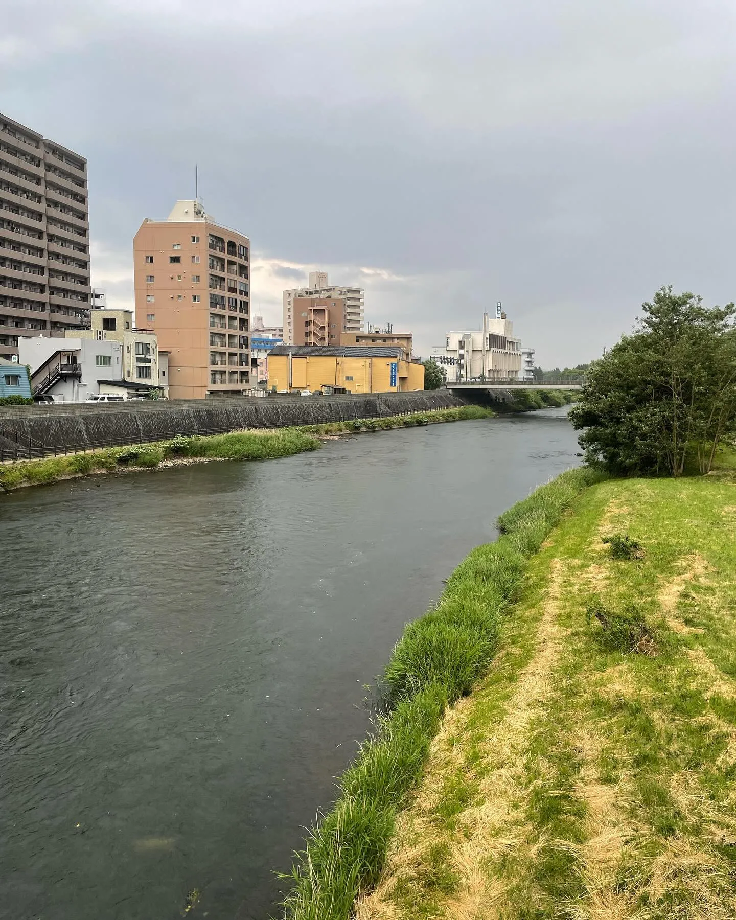
[[[231,431],[228,434],[208,437],[178,437],[171,441],[110,447],[88,454],[69,454],[0,465],[0,489],[9,491],[91,473],[112,472],[121,468],[153,469],[162,463],[186,463],[193,458],[270,460],[314,451],[320,446],[320,436],[485,419],[493,414],[488,408],[462,406],[388,416],[385,419],[350,420],[275,430]]]

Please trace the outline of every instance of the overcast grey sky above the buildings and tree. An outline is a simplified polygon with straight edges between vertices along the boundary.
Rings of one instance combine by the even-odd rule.
[[[3,0],[0,112],[85,155],[93,284],[200,193],[253,313],[308,270],[366,319],[598,356],[663,283],[736,299],[732,0]]]

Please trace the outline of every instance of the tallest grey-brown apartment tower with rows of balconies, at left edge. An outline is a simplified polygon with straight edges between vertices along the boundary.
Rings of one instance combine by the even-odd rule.
[[[89,326],[86,159],[0,115],[0,357]]]

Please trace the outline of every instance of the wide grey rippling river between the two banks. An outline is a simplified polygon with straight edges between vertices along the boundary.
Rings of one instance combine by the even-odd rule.
[[[0,916],[245,920],[403,625],[575,465],[566,410],[0,498]]]

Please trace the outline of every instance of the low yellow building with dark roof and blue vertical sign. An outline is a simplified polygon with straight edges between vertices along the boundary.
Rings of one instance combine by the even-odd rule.
[[[344,386],[350,393],[424,389],[424,367],[397,346],[277,345],[268,354],[269,389],[279,393]]]

